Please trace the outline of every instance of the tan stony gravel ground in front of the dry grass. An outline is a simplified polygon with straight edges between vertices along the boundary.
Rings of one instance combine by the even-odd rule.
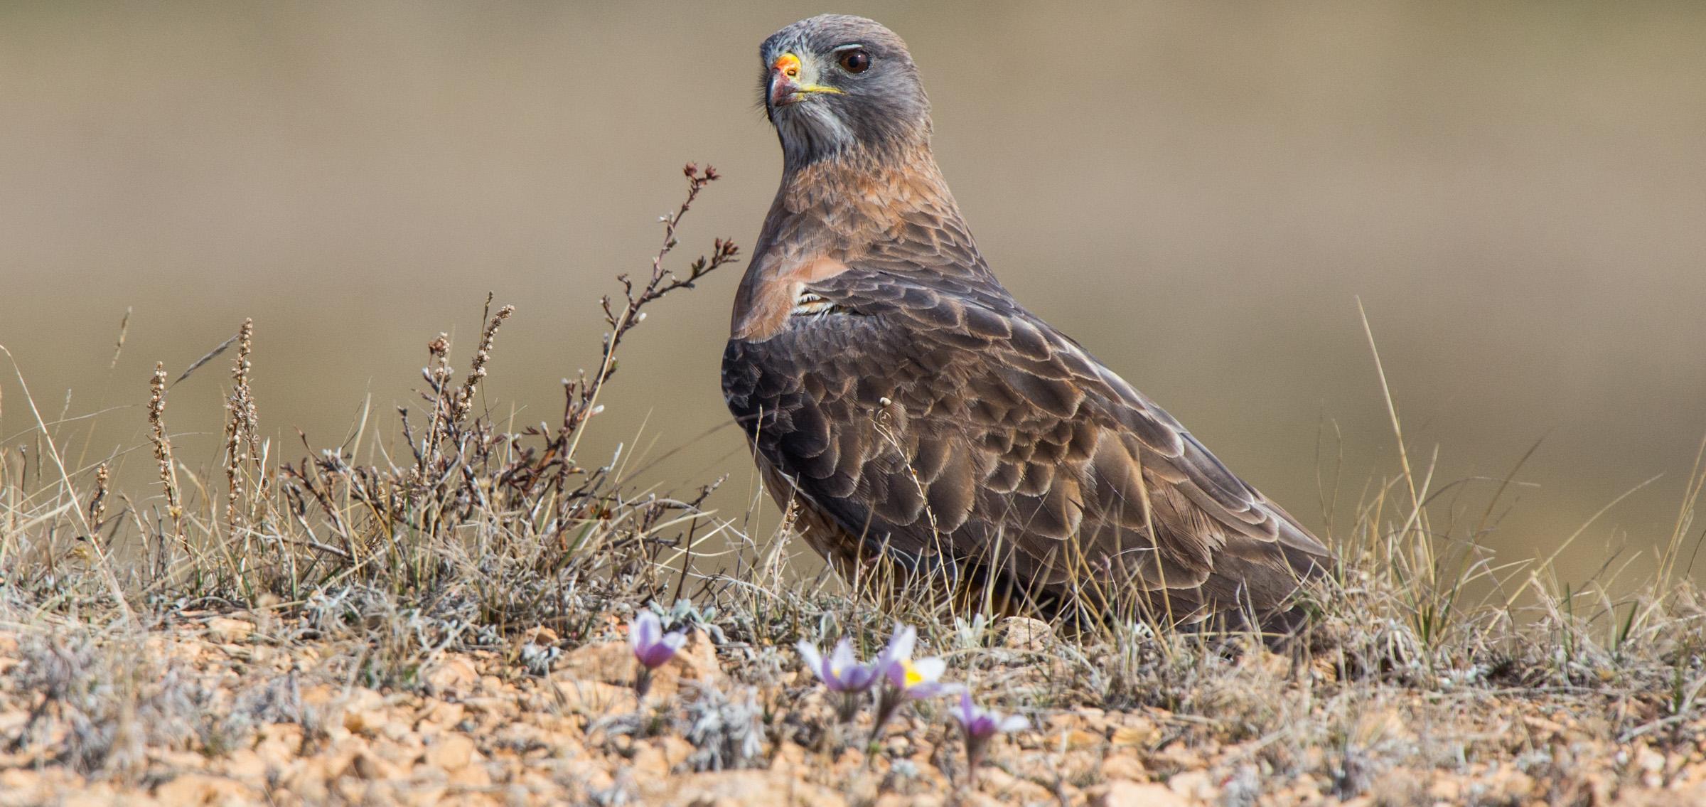
[[[989,650],[1003,691],[1047,688],[1056,640],[1032,628],[1010,624]],[[1198,715],[1030,708],[1034,729],[998,739],[967,787],[945,703],[902,713],[867,759],[868,715],[834,727],[792,650],[694,633],[636,713],[616,619],[609,642],[563,647],[536,628],[507,648],[438,653],[411,686],[377,689],[334,664],[350,645],[281,635],[271,613],[179,613],[140,643],[116,630],[5,628],[0,805],[1706,804],[1701,725],[1665,723],[1651,698],[1587,689],[1341,686],[1327,664],[1252,652],[1239,660],[1252,677],[1204,694]],[[53,659],[67,681],[43,684]],[[780,671],[754,674],[766,659]],[[106,694],[80,701],[77,688]],[[752,720],[771,727],[746,768],[696,771],[715,766],[715,740],[691,725],[706,698],[751,700],[764,715]],[[116,706],[99,718],[97,703]],[[1264,723],[1257,708],[1303,711]],[[198,729],[174,735],[174,720]],[[1295,742],[1293,720],[1336,727],[1339,752]],[[80,763],[99,746],[85,735],[106,725],[99,759]],[[1619,739],[1621,725],[1636,729]]]

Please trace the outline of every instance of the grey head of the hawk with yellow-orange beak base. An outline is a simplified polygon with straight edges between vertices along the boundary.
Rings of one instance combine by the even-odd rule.
[[[761,92],[788,165],[930,140],[930,101],[906,43],[865,17],[824,14],[764,39]]]

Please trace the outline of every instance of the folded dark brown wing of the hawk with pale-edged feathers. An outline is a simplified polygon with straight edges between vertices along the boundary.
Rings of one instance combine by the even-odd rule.
[[[853,266],[723,392],[761,464],[865,556],[995,577],[1034,601],[1085,582],[1181,621],[1268,621],[1327,549],[1179,421],[976,276]],[[850,548],[858,553],[860,548]]]

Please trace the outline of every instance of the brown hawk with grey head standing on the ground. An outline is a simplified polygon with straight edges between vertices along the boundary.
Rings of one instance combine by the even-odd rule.
[[[781,188],[722,386],[768,488],[843,577],[1003,609],[1290,631],[1327,548],[995,278],[899,36],[848,15],[759,49]],[[921,595],[921,594],[916,594]]]

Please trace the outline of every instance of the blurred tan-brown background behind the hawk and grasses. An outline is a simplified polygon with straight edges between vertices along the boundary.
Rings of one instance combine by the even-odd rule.
[[[275,454],[392,432],[425,346],[554,421],[597,297],[643,273],[681,164],[717,165],[677,253],[749,247],[780,169],[756,49],[822,10],[911,44],[937,154],[996,275],[1235,471],[1338,532],[1411,461],[1488,539],[1588,577],[1670,536],[1706,433],[1706,5],[0,5],[0,345],[78,467],[148,485],[147,380],[256,321]],[[751,461],[718,391],[740,266],[655,305],[583,457],[681,490]],[[123,353],[114,341],[130,314]],[[229,355],[169,396],[217,467]],[[0,367],[0,440],[32,415]],[[278,449],[283,449],[281,452]],[[1343,461],[1341,461],[1343,456]],[[775,510],[761,525],[775,524]],[[1641,561],[1636,563],[1639,566]]]

